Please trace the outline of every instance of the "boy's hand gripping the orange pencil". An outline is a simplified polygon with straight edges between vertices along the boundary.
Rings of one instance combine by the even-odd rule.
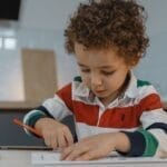
[[[39,129],[47,146],[57,149],[73,144],[69,128],[51,118],[41,118],[36,122],[35,128]]]

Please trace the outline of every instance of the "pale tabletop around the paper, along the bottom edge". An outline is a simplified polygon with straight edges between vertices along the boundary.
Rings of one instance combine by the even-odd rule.
[[[167,167],[167,159],[160,161],[129,161],[129,159],[119,163],[81,163],[81,164],[57,164],[57,165],[32,165],[31,153],[37,150],[0,150],[0,167]]]

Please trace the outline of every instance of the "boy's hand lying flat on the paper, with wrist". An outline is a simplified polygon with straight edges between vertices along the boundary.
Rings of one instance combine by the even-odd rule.
[[[91,160],[108,156],[114,150],[128,151],[128,137],[122,132],[108,132],[87,137],[65,148],[62,160]]]

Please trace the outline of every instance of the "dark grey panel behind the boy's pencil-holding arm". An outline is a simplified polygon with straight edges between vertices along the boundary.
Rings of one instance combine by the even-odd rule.
[[[0,110],[0,149],[51,149],[45,145],[42,138],[29,136],[23,128],[13,124],[13,118],[22,120],[24,115],[23,111]],[[65,118],[62,122],[72,129],[71,132],[76,138],[72,117]]]

